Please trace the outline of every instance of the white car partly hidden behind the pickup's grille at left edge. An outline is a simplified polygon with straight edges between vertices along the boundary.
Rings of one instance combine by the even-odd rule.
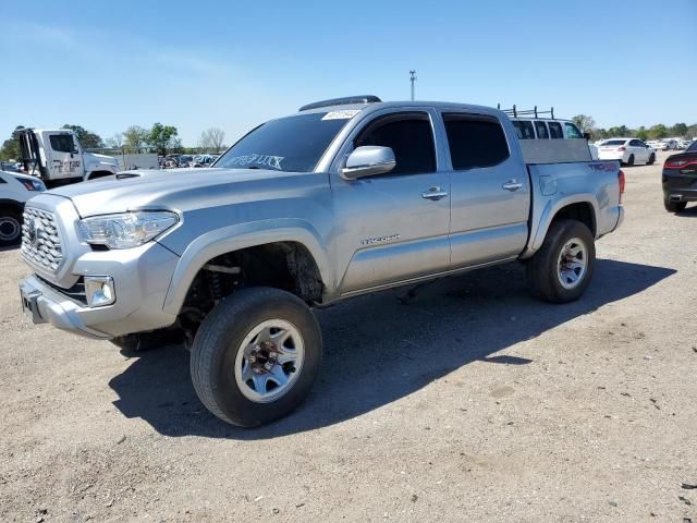
[[[46,185],[36,177],[0,171],[0,247],[20,243],[24,205],[42,191]]]

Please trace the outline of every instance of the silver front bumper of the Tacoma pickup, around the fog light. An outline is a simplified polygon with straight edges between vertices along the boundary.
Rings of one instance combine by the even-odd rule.
[[[30,276],[20,282],[25,314],[34,324],[51,324],[70,332],[110,339],[171,326],[176,315],[162,311],[179,256],[156,242],[131,250],[89,252],[72,267],[76,277],[105,276],[113,280],[115,301],[90,306],[85,299]]]

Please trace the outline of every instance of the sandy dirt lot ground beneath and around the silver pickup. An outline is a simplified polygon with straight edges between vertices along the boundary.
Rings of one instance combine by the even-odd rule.
[[[697,207],[625,172],[583,300],[512,265],[322,311],[321,380],[255,430],[205,411],[181,348],[29,326],[0,253],[0,521],[697,522]]]

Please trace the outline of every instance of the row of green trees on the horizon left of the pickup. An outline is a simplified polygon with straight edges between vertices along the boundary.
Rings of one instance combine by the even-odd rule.
[[[20,131],[24,125],[17,125],[10,137],[0,147],[0,160],[16,160],[20,153]],[[159,155],[169,153],[193,153],[193,148],[182,145],[179,131],[174,125],[163,125],[160,122],[150,129],[131,125],[123,133],[102,139],[97,133],[86,130],[82,125],[65,124],[61,129],[75,132],[84,149],[124,149],[130,153],[157,151]],[[210,127],[200,134],[198,147],[195,151],[220,153],[224,146],[225,133],[218,127]]]

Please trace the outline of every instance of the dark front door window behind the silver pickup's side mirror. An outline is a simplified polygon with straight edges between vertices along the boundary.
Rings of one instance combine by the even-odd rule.
[[[354,141],[354,147],[391,147],[396,166],[386,175],[436,172],[436,146],[428,114],[402,113],[381,117]]]

